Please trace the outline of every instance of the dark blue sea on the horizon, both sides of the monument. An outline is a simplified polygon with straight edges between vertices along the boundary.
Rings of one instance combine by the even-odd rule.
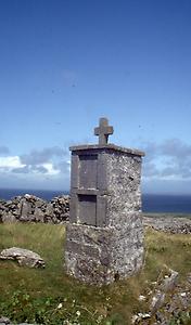
[[[59,195],[69,194],[67,191],[0,188],[0,199],[9,200],[26,193],[46,200],[51,200]],[[191,213],[191,195],[142,194],[142,211]]]

